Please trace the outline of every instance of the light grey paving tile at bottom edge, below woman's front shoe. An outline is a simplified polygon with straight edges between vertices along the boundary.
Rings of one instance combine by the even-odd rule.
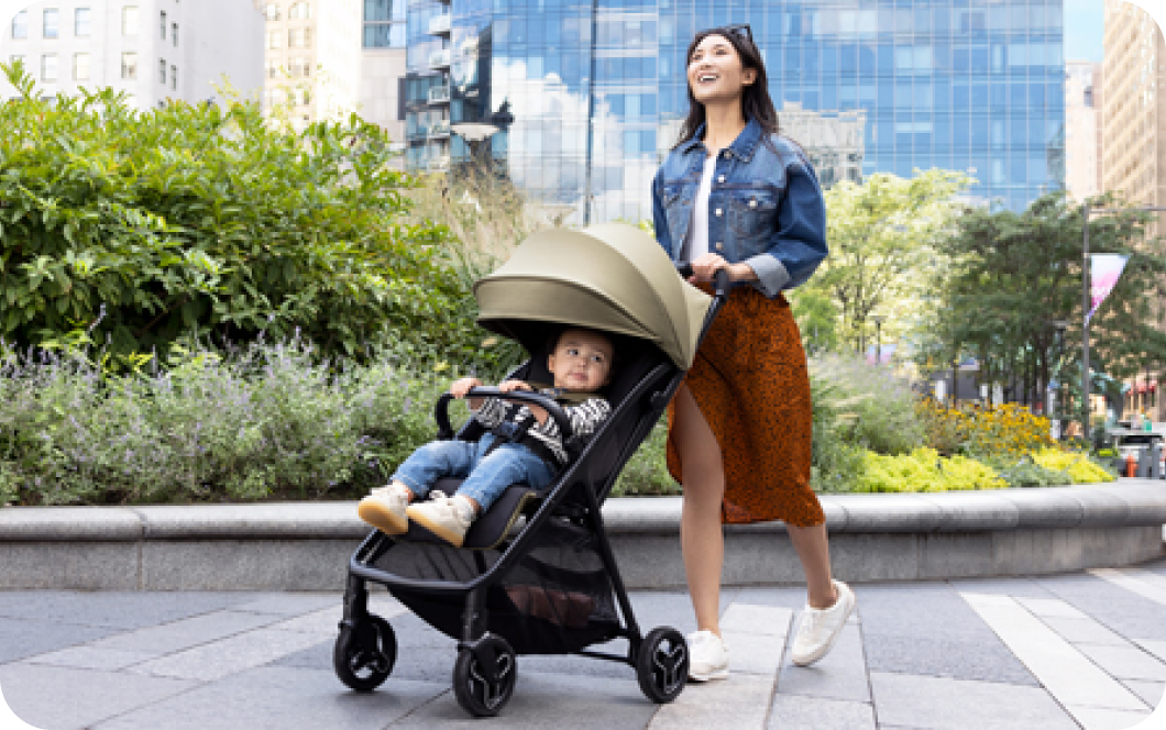
[[[660,707],[648,729],[757,730],[765,727],[772,702],[772,676],[730,674],[723,681],[686,687],[674,702]]]

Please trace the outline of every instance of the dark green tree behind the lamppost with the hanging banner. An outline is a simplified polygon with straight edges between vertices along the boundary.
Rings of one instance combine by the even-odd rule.
[[[1090,252],[1131,257],[1090,324],[1093,370],[1121,380],[1149,363],[1166,363],[1159,306],[1166,258],[1160,241],[1145,240],[1147,213],[1112,195],[1091,204],[1121,212],[1090,219]],[[1038,198],[1023,213],[968,209],[939,244],[948,275],[933,342],[944,343],[948,352],[975,353],[983,378],[1020,381],[1030,402],[1054,375],[1070,386],[1080,382],[1080,370],[1073,370],[1084,316],[1082,223],[1081,208],[1061,191]],[[1070,323],[1063,363],[1058,362],[1055,321]]]

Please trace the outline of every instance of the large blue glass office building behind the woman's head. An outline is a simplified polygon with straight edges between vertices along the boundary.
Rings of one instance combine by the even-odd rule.
[[[698,29],[749,23],[787,132],[823,182],[971,171],[1023,209],[1063,187],[1061,0],[413,0],[413,168],[468,155],[462,121],[571,223],[651,217],[649,184],[687,111]]]

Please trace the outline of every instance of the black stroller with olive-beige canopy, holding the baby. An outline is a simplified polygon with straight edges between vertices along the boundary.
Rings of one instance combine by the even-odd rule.
[[[510,378],[550,382],[548,343],[564,324],[616,336],[621,364],[603,391],[612,413],[584,441],[571,436],[562,408],[542,394],[471,389],[471,395],[545,408],[570,459],[541,492],[511,485],[472,524],[461,548],[415,524],[395,539],[373,529],[349,561],[333,652],[337,676],[368,692],[396,661],[392,626],[368,612],[372,581],[458,639],[454,694],[470,715],[497,715],[510,701],[517,654],[626,662],[648,700],[670,702],[688,678],[684,637],[669,626],[641,633],[599,507],[691,366],[725,301],[728,279],[718,276],[710,299],[677,275],[651,236],[604,224],[532,236],[473,290],[478,323],[518,341],[531,356]],[[485,431],[472,417],[455,433],[451,398],[442,395],[435,408],[438,437],[479,438]],[[434,489],[451,494],[459,483],[442,479]],[[617,638],[627,639],[626,654],[588,648]]]

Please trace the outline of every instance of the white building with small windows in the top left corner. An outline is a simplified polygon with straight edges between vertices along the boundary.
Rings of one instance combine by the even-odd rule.
[[[259,98],[264,17],[238,0],[44,0],[19,10],[0,59],[21,59],[45,96],[111,86],[139,108],[219,100],[224,80]],[[0,79],[0,96],[14,90]]]

